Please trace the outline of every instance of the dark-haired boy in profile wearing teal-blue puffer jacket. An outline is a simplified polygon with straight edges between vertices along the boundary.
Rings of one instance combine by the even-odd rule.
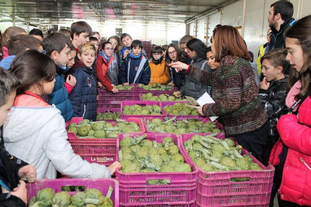
[[[70,39],[60,33],[49,34],[43,43],[46,54],[58,65],[58,70],[55,73],[56,81],[52,93],[49,94],[49,98],[56,108],[61,111],[65,122],[67,122],[72,118],[73,110],[68,98],[68,92],[70,91],[66,88],[72,88],[76,85],[76,79],[72,75],[68,75],[65,81],[65,73],[69,70],[67,63],[71,59],[70,50],[72,43]]]

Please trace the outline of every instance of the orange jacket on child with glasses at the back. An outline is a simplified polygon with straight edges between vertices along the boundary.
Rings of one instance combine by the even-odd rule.
[[[149,67],[151,70],[150,78],[152,79],[153,83],[160,83],[165,84],[169,82],[169,67],[165,67],[165,60],[163,59],[162,62],[158,65],[154,64],[154,62],[149,63]],[[165,74],[164,74],[165,70]],[[149,82],[149,85],[151,83]]]

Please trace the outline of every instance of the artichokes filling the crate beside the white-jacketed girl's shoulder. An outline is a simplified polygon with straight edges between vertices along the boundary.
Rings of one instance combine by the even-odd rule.
[[[73,132],[78,138],[102,139],[117,138],[118,134],[140,132],[140,127],[135,122],[127,122],[122,119],[116,119],[115,126],[106,121],[92,122],[83,119],[79,124],[71,123],[67,132]]]

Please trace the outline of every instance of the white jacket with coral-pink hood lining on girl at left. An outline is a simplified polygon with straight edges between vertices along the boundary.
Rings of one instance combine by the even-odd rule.
[[[37,179],[55,179],[56,170],[71,178],[110,177],[104,165],[74,154],[60,111],[36,94],[16,97],[3,134],[7,151],[33,165]]]

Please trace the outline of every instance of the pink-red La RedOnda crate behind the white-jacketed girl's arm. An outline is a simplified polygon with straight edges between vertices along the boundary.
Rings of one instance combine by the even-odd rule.
[[[66,128],[71,123],[80,123],[83,120],[81,117],[74,117],[66,123]],[[145,132],[145,127],[141,119],[128,118],[128,122],[136,122],[140,127],[141,133]],[[111,123],[115,126],[117,123]],[[90,163],[98,163],[109,166],[116,160],[117,139],[80,139],[73,132],[67,132],[68,142],[72,146],[75,154],[80,155],[83,160]]]

